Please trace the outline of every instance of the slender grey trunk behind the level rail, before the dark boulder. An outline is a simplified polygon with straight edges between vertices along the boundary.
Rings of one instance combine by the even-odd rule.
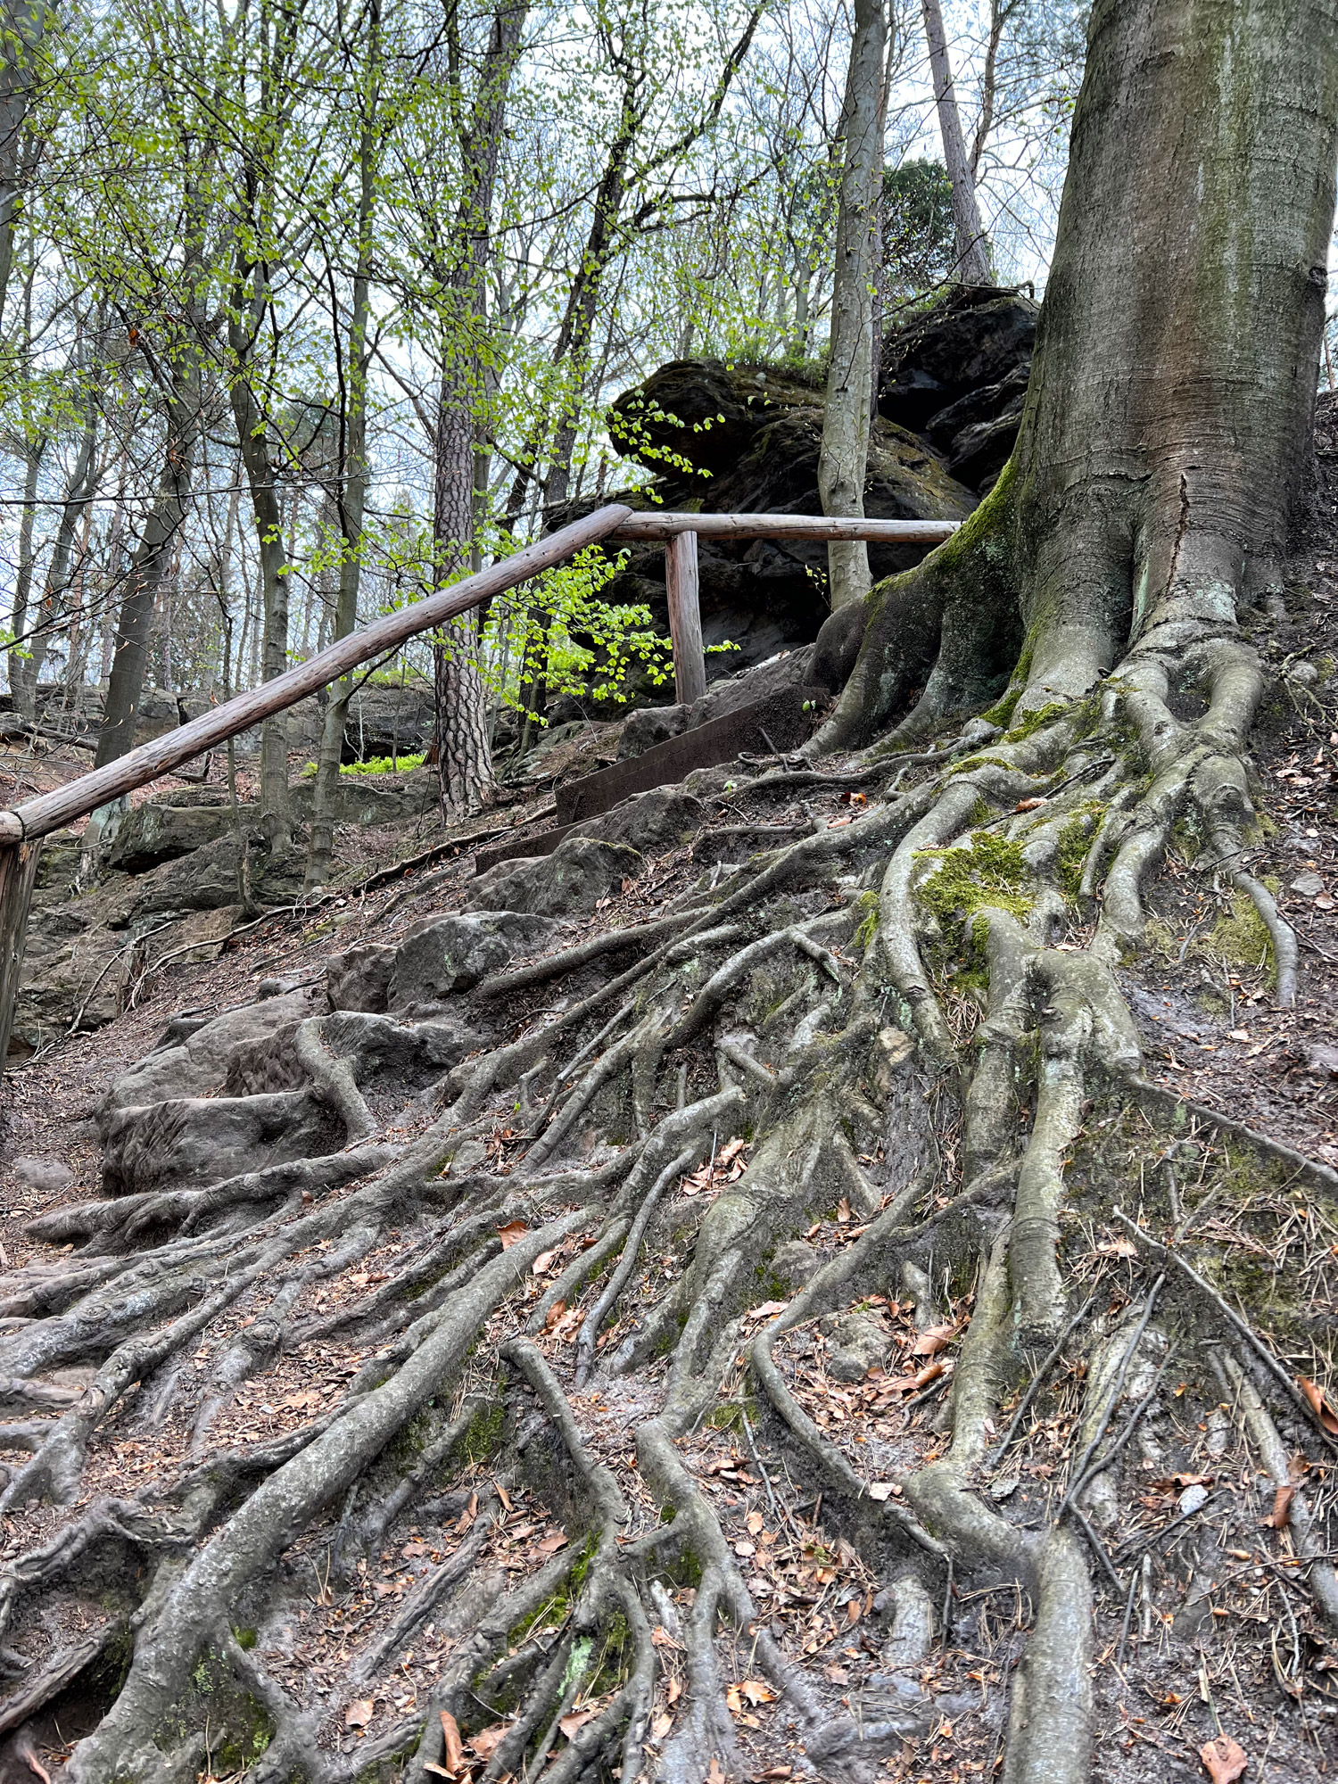
[[[883,166],[883,50],[887,18],[881,0],[856,0],[846,102],[840,114],[842,171],[837,219],[837,268],[831,289],[831,359],[822,410],[817,487],[824,514],[863,516],[869,462],[869,389],[874,378],[874,211]],[[833,610],[869,592],[869,548],[828,546]]]

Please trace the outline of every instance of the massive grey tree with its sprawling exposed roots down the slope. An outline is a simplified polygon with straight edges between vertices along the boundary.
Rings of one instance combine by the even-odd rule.
[[[1247,628],[1336,130],[1334,0],[1097,0],[1013,462],[810,762],[723,771],[842,819],[721,874],[674,817],[580,938],[483,906],[571,860],[369,892],[120,1076],[5,1277],[7,1763],[78,1706],[61,1784],[1135,1784],[1195,1727],[1318,1784],[1338,1179],[1149,1081],[1119,974],[1176,826],[1295,978]]]

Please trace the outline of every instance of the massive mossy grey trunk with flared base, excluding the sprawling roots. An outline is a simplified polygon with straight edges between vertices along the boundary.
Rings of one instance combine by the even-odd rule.
[[[1010,466],[869,601],[828,731],[1022,710],[1133,657],[1227,698],[1304,482],[1334,205],[1334,7],[1101,0]],[[1138,152],[1131,152],[1131,145]],[[928,680],[926,680],[928,678]],[[1240,680],[1233,683],[1242,687]]]

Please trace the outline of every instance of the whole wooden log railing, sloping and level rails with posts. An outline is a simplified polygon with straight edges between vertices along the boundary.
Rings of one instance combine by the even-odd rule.
[[[585,546],[608,541],[664,541],[669,630],[674,644],[674,687],[680,701],[706,692],[706,667],[701,653],[701,614],[698,605],[698,537],[712,539],[869,539],[897,544],[942,544],[956,530],[956,521],[858,521],[806,514],[637,514],[624,503],[608,503],[585,519],[573,521],[548,539],[524,546],[514,557],[466,576],[450,589],[384,619],[362,632],[351,632],[307,662],[287,669],[262,687],[237,694],[211,712],[191,719],[162,737],[139,744],[116,762],[80,774],[55,792],[37,794],[21,805],[0,810],[0,1070],[9,1051],[18,978],[23,967],[32,881],[37,872],[41,838],[62,830],[98,806],[146,787],[159,774],[169,774],[193,756],[250,731],[264,719],[294,706],[300,699],[350,674],[360,664],[398,649],[421,632],[430,632],[458,614],[489,601],[532,576],[555,569]]]

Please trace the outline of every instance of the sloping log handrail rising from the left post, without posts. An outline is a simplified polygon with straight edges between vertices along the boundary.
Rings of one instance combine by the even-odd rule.
[[[225,744],[228,737],[237,737],[241,731],[250,731],[253,724],[273,717],[285,706],[294,706],[307,694],[328,687],[330,681],[337,681],[350,669],[357,669],[359,664],[380,657],[382,651],[394,649],[398,644],[412,639],[414,633],[441,626],[471,607],[478,607],[480,601],[514,589],[517,582],[528,582],[541,571],[553,569],[553,566],[573,557],[583,546],[598,544],[599,539],[607,539],[621,526],[630,514],[632,508],[626,508],[621,501],[596,508],[583,521],[573,521],[562,532],[524,546],[516,557],[489,564],[478,574],[466,576],[464,582],[457,582],[450,589],[439,589],[423,601],[412,601],[396,614],[387,614],[384,619],[364,626],[362,632],[350,632],[346,639],[339,639],[328,649],[309,657],[305,664],[284,671],[273,681],[264,681],[246,694],[237,694],[235,699],[228,699],[221,706],[200,714],[189,724],[164,731],[162,737],[155,737],[148,744],[139,744],[137,749],[128,749],[116,762],[109,762],[102,769],[93,769],[91,774],[80,774],[68,787],[39,794],[36,799],[25,799],[23,805],[0,812],[0,844],[32,842],[37,837],[48,837],[54,830],[73,822],[73,819],[96,812],[100,805],[120,799],[123,792],[145,787],[148,781],[157,780],[159,774],[168,774],[182,762],[189,762],[191,756],[203,755],[205,749]]]

